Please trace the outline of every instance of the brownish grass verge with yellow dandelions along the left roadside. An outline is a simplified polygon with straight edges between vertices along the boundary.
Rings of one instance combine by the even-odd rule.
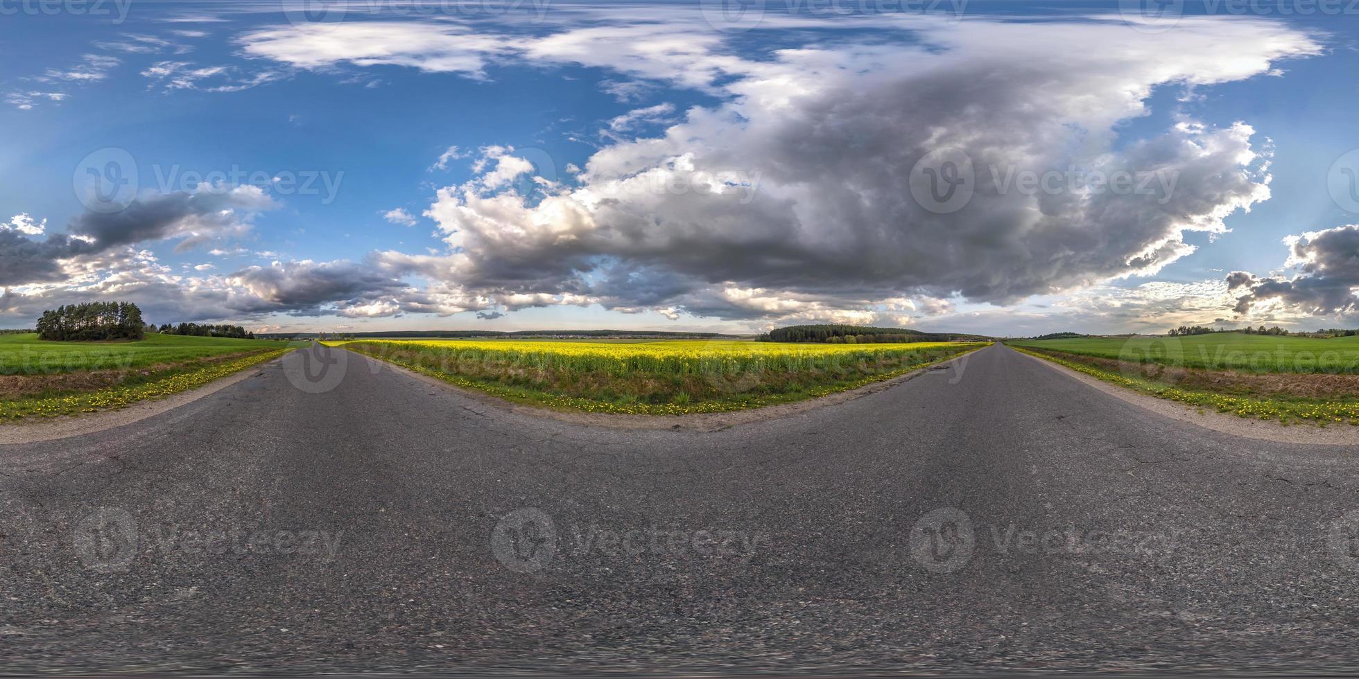
[[[227,375],[277,359],[289,350],[287,348],[265,349],[224,360],[205,359],[155,371],[130,371],[114,387],[95,391],[49,390],[42,394],[0,401],[0,422],[117,410],[137,401],[164,398],[198,388]]]

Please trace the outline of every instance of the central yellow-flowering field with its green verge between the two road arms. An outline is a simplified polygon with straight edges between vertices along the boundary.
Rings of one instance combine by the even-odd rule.
[[[340,344],[508,401],[624,414],[718,413],[802,401],[896,378],[985,346],[738,341]]]

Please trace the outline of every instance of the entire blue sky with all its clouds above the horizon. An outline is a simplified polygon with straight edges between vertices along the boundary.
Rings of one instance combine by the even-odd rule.
[[[0,11],[0,327],[1359,326],[1354,3]]]

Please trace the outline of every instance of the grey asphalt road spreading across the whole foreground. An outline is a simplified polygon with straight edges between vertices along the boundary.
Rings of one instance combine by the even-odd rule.
[[[1355,671],[1356,455],[1003,346],[713,433],[311,349],[0,447],[0,671]]]

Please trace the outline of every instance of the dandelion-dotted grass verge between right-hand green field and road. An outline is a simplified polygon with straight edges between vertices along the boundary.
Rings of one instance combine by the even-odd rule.
[[[1117,341],[1117,340],[1112,340]],[[1011,349],[1037,356],[1060,365],[1065,365],[1076,372],[1098,378],[1105,382],[1120,384],[1152,397],[1178,401],[1200,407],[1211,407],[1219,413],[1233,413],[1238,417],[1256,420],[1277,420],[1287,424],[1291,420],[1311,421],[1321,425],[1335,422],[1349,422],[1359,425],[1359,395],[1321,398],[1264,398],[1252,395],[1233,395],[1207,388],[1182,388],[1166,384],[1154,379],[1147,379],[1128,371],[1113,371],[1101,365],[1090,357],[1104,357],[1102,354],[1063,354],[1061,352],[1033,348],[1036,342],[1025,345],[1010,345]]]

